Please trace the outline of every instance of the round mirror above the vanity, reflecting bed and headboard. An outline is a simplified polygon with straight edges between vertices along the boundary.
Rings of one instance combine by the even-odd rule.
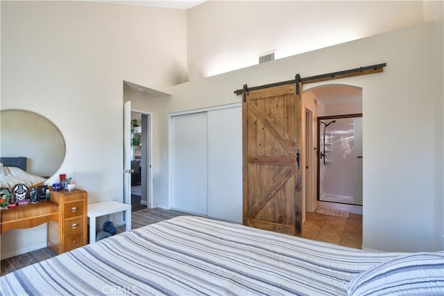
[[[51,121],[33,112],[2,110],[0,127],[0,156],[3,162],[0,171],[1,186],[10,187],[3,184],[4,180],[14,182],[6,177],[8,173],[22,174],[22,171],[15,167],[22,168],[35,177],[43,177],[43,180],[58,171],[65,158],[65,139]],[[19,162],[16,158],[9,157],[26,157],[25,166],[17,164]],[[9,172],[8,167],[14,168]],[[28,182],[32,184],[42,182],[41,179],[40,182],[37,182],[39,179],[32,179],[31,177]],[[23,183],[26,184],[26,182]],[[27,186],[30,185],[27,184]]]

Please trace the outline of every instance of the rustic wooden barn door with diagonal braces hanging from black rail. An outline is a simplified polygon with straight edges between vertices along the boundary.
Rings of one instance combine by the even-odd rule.
[[[242,105],[244,225],[302,234],[301,112],[296,84],[247,93]]]

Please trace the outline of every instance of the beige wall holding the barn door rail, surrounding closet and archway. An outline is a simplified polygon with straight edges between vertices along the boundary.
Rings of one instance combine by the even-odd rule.
[[[432,35],[433,24],[421,24],[191,80],[173,87],[165,111],[239,102],[233,91],[244,83],[263,85],[289,80],[295,72],[307,77],[386,62],[384,73],[341,80],[363,89],[364,247],[437,250],[433,244],[434,178],[430,177],[434,171]],[[411,73],[416,73],[415,87],[411,87]],[[167,151],[168,119],[167,114],[162,116],[160,150]],[[417,140],[418,134],[422,141]],[[420,161],[411,161],[418,152]],[[159,177],[167,179],[167,171]],[[168,188],[162,193],[167,203]]]

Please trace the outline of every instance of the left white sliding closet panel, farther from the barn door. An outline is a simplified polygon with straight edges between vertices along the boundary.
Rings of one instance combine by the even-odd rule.
[[[171,118],[172,207],[207,215],[207,113]]]

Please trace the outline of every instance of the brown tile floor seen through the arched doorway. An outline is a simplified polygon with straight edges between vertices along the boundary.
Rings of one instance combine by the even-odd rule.
[[[362,215],[350,214],[349,218],[341,218],[307,213],[302,225],[302,236],[315,241],[361,249]]]

